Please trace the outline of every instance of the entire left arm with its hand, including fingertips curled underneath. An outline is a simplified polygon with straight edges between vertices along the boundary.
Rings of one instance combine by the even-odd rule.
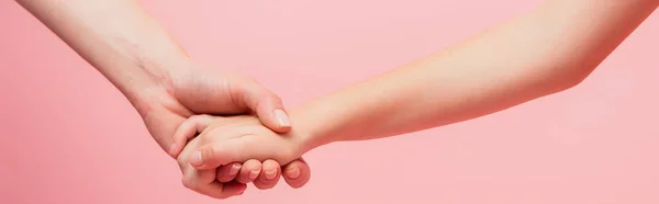
[[[176,158],[187,140],[175,140],[175,131],[194,114],[256,114],[270,129],[291,129],[279,97],[250,78],[192,60],[158,22],[135,0],[16,0],[82,58],[108,78],[135,106],[154,139]],[[235,175],[277,172],[277,161],[236,163]],[[301,159],[283,172],[295,188],[309,181],[309,166]],[[254,177],[252,174],[252,177]],[[277,183],[279,177],[264,181]],[[183,178],[193,178],[185,174]],[[271,178],[271,177],[268,177]],[[239,180],[241,186],[252,180]],[[228,181],[227,181],[228,182]],[[217,185],[222,185],[219,182]],[[194,189],[225,199],[239,191]]]

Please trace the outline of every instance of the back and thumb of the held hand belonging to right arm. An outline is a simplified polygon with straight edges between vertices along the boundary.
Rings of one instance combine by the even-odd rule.
[[[302,152],[301,136],[279,135],[253,116],[205,118],[208,127],[198,136],[201,146],[190,162],[197,169],[212,169],[249,159],[272,159],[289,163]]]

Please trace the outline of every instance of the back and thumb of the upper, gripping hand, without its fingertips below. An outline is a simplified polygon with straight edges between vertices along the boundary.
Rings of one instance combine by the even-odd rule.
[[[170,139],[178,125],[194,114],[256,114],[277,133],[291,129],[279,97],[252,78],[193,63],[186,66],[177,69],[182,71],[152,76],[157,86],[143,91],[146,100],[135,104],[149,132],[172,157],[186,144],[164,139]]]

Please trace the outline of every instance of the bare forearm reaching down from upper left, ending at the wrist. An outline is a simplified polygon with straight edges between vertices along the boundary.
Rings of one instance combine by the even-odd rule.
[[[148,109],[186,53],[134,0],[16,0],[105,76],[138,111]]]

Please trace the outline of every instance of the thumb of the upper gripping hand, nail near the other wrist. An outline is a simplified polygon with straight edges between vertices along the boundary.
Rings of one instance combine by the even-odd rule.
[[[288,113],[283,109],[281,99],[256,81],[244,83],[237,89],[245,106],[256,113],[261,123],[277,133],[288,133],[291,124]]]

